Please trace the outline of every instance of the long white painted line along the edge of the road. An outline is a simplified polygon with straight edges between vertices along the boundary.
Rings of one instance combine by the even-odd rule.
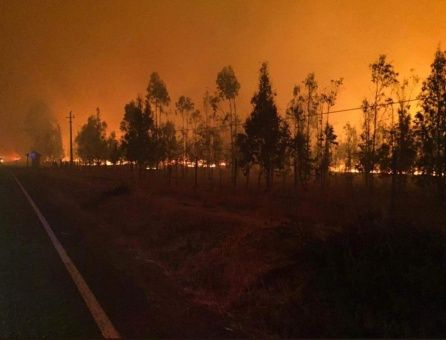
[[[36,212],[37,217],[39,218],[40,222],[43,225],[43,228],[47,232],[51,242],[53,243],[54,248],[56,248],[57,253],[59,254],[62,262],[64,263],[65,267],[67,268],[68,273],[70,274],[71,278],[73,279],[74,283],[76,284],[77,289],[79,290],[79,293],[82,295],[88,309],[90,310],[90,313],[93,316],[93,319],[96,321],[96,324],[99,327],[99,329],[102,333],[102,336],[107,339],[120,338],[118,331],[115,329],[115,327],[111,323],[107,314],[105,314],[105,311],[102,309],[101,305],[99,304],[98,300],[94,296],[93,292],[88,287],[87,282],[85,282],[85,280],[82,277],[79,270],[77,270],[73,261],[71,261],[70,257],[68,256],[67,252],[63,248],[62,244],[57,239],[56,235],[54,234],[53,230],[51,229],[51,227],[48,224],[45,217],[42,215],[39,208],[32,200],[31,196],[25,190],[22,183],[20,183],[20,181],[17,179],[17,177],[14,174],[12,174],[12,176],[14,177],[15,181],[17,182],[18,186],[22,190],[23,194],[28,199],[28,202],[31,204],[34,211]]]

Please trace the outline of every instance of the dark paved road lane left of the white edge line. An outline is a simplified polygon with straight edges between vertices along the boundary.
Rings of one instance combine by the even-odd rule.
[[[0,169],[0,337],[99,337],[35,212]]]

